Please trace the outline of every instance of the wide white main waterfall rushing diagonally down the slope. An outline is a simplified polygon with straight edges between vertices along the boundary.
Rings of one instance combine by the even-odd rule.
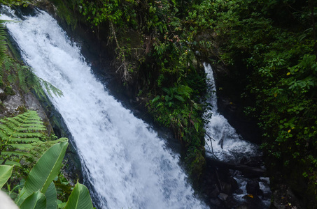
[[[8,9],[8,8],[7,8]],[[179,155],[92,75],[57,22],[43,11],[7,27],[38,77],[63,91],[52,98],[76,142],[98,208],[206,208],[194,196]]]

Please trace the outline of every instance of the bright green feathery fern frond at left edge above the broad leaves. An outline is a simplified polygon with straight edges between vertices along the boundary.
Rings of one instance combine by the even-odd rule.
[[[0,120],[1,163],[20,162],[22,157],[38,158],[52,144],[45,141],[46,127],[36,111],[27,111],[11,118]],[[63,139],[59,139],[61,141]]]

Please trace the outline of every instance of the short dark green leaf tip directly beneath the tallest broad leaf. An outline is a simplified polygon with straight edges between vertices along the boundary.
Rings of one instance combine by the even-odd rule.
[[[25,199],[20,209],[44,209],[46,207],[46,198],[40,191],[33,192]]]

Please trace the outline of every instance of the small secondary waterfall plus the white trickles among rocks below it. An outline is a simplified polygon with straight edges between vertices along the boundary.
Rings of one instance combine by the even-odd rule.
[[[204,69],[206,72],[207,85],[209,86],[209,93],[211,96],[208,100],[211,105],[211,111],[206,114],[212,114],[209,119],[209,123],[206,124],[206,155],[209,157],[217,157],[219,160],[225,162],[240,163],[242,157],[246,159],[250,157],[260,156],[260,150],[258,146],[248,141],[244,141],[239,134],[237,134],[234,127],[232,127],[227,119],[218,112],[217,107],[217,95],[216,95],[216,84],[213,77],[213,70],[211,65],[204,63]],[[211,138],[211,139],[210,139]],[[241,201],[242,203],[246,200],[246,184],[247,178],[241,175],[239,172],[232,174],[237,183],[239,184],[239,191],[232,194],[234,199]],[[260,177],[259,186],[262,190],[260,199],[254,201],[258,205],[257,208],[269,208],[271,191],[269,189],[269,178]]]

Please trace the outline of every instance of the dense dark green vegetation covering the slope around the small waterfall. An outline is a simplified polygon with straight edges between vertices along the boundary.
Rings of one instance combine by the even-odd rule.
[[[244,77],[241,96],[255,101],[245,113],[258,118],[273,185],[285,181],[316,206],[316,1],[72,3],[92,29],[109,28],[123,81],[141,80],[139,95],[146,94],[153,117],[188,148],[191,165],[204,164],[205,88],[197,58]]]

